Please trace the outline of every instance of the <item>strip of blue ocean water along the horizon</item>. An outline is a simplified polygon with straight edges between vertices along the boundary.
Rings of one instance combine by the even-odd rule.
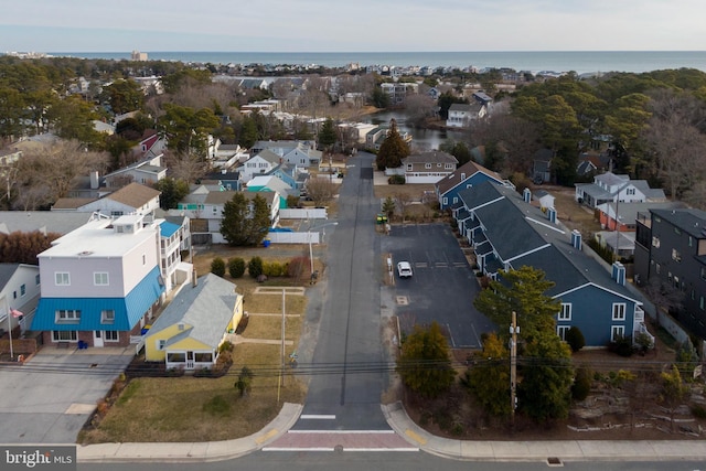
[[[129,52],[49,53],[54,56],[129,60]],[[147,52],[152,61],[212,64],[287,64],[343,67],[366,65],[431,67],[509,67],[515,71],[606,73],[696,68],[706,72],[706,51],[573,51],[573,52]]]

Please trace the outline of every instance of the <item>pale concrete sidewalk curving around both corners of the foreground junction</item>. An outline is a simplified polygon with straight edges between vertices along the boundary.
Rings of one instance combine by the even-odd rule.
[[[567,440],[468,441],[436,437],[418,427],[400,403],[383,405],[392,429],[411,446],[430,454],[463,461],[684,461],[706,459],[704,440]],[[235,440],[191,443],[100,443],[77,447],[81,463],[88,462],[207,462],[257,451],[285,435],[299,419],[299,404],[285,404],[263,430]]]

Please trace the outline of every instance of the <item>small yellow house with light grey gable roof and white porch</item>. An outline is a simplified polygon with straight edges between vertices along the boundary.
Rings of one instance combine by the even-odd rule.
[[[183,287],[147,333],[145,360],[165,362],[168,368],[212,367],[243,317],[243,296],[235,288],[213,274]]]

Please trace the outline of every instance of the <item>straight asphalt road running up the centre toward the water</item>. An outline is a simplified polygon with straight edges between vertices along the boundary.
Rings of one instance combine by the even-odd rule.
[[[338,225],[328,231],[328,277],[298,430],[388,430],[381,411],[386,365],[379,341],[379,259],[373,156],[349,160]]]

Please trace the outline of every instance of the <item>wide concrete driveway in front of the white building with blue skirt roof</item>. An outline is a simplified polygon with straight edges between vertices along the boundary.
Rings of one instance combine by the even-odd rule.
[[[74,443],[135,347],[42,349],[0,366],[0,443]]]

